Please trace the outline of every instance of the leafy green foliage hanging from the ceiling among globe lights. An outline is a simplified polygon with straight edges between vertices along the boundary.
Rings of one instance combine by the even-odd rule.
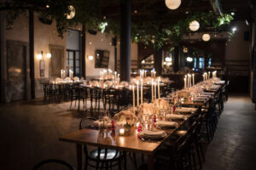
[[[27,9],[32,9],[40,16],[40,20],[45,24],[50,24],[52,20],[56,22],[56,29],[60,37],[70,26],[79,24],[85,25],[87,30],[102,31],[119,36],[120,24],[113,17],[106,17],[102,11],[106,10],[106,5],[111,3],[119,5],[118,0],[112,0],[106,3],[102,0],[26,0],[20,2],[18,0],[13,3],[0,3],[0,8],[9,9],[7,14],[8,28],[13,26],[14,20],[20,14],[26,14]],[[134,3],[134,2],[133,2]],[[160,13],[159,11],[150,11],[148,8],[154,8],[156,0],[150,0],[147,3],[136,1],[133,5],[140,5],[140,11],[146,13],[148,20],[137,20],[137,17],[131,18],[131,38],[133,42],[143,42],[147,46],[160,49],[164,45],[178,45],[185,33],[189,32],[189,23],[197,20],[200,23],[199,31],[218,30],[224,26],[230,25],[233,17],[230,14],[222,14],[217,16],[212,12],[194,12],[183,14],[180,19],[173,20],[169,18],[169,12]],[[192,5],[196,1],[189,1],[188,5]],[[75,16],[68,20],[67,14],[70,14],[72,5],[75,8]],[[108,9],[108,8],[107,8]],[[169,14],[169,15],[168,15]]]

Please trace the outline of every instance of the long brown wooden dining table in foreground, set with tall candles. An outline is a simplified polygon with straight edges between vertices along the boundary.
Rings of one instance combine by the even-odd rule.
[[[188,119],[191,116],[194,116],[195,112],[198,110],[197,108],[190,108],[191,112],[188,114],[184,113],[184,115],[188,115]],[[187,121],[177,121],[179,126],[177,128],[168,129],[166,133],[168,134],[165,139],[152,143],[139,139],[137,137],[137,129],[132,128],[131,134],[120,136],[119,129],[115,129],[114,131],[110,131],[108,133],[108,137],[105,133],[105,138],[108,140],[102,139],[102,133],[95,129],[81,129],[75,131],[73,133],[69,133],[60,138],[61,141],[69,142],[76,144],[77,148],[77,164],[78,170],[82,170],[82,145],[93,145],[102,148],[114,149],[114,150],[122,150],[122,151],[134,151],[137,153],[143,153],[148,155],[148,170],[154,169],[154,161],[153,155],[156,149],[162,144],[168,137],[170,137],[173,133],[177,131],[179,127],[182,127],[183,124]],[[160,130],[154,128],[154,130]]]

